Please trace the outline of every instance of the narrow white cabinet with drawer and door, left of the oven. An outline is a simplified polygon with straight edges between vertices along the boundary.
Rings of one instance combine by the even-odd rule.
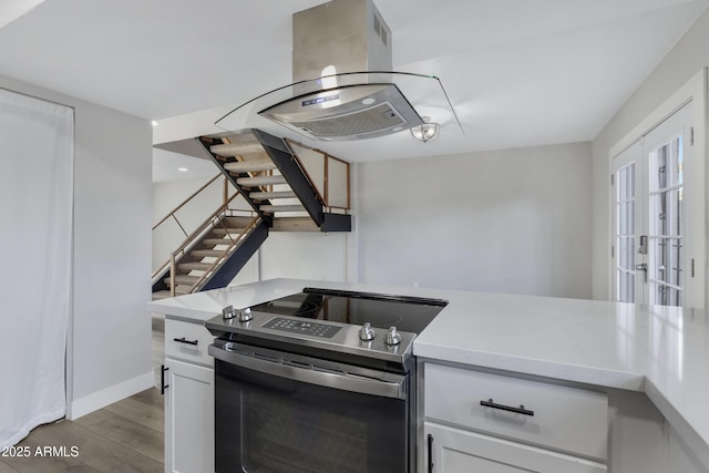
[[[166,473],[214,472],[212,339],[201,323],[165,320]]]

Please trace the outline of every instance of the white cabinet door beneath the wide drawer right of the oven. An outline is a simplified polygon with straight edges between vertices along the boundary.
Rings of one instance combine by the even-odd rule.
[[[424,439],[429,441],[433,469],[429,470],[429,451],[424,473],[600,473],[605,465],[507,442],[487,435],[424,423]]]

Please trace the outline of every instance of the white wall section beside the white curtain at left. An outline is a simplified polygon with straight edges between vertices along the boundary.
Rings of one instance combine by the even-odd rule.
[[[75,418],[148,388],[152,126],[0,76],[0,86],[75,110],[73,310],[68,390]],[[63,337],[63,333],[56,333]]]

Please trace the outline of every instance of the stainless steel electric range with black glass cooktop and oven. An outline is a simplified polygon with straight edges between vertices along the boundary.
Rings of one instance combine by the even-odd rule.
[[[217,473],[411,473],[417,333],[440,299],[305,288],[206,322]]]

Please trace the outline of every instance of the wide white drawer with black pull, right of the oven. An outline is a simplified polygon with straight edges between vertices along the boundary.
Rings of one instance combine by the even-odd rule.
[[[430,363],[424,385],[427,419],[606,461],[603,393]]]

